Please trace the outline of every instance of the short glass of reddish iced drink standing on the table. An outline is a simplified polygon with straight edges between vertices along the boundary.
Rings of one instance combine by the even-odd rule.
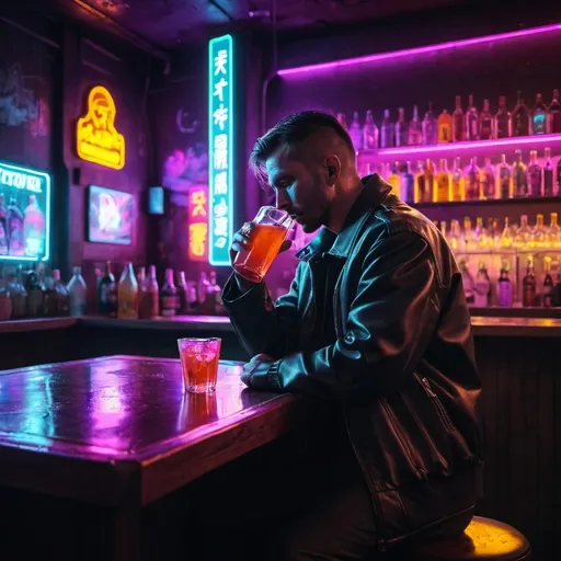
[[[181,369],[185,389],[191,393],[209,393],[216,390],[221,340],[179,339]]]

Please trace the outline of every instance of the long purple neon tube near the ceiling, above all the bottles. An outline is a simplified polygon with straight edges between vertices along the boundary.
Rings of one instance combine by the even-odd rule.
[[[403,50],[379,53],[377,55],[366,55],[363,57],[355,58],[345,58],[343,60],[332,60],[330,62],[320,62],[318,65],[300,66],[296,68],[284,68],[282,70],[278,70],[277,75],[285,77],[306,72],[320,72],[322,70],[333,70],[334,68],[340,68],[344,66],[360,65],[364,62],[377,62],[379,60],[402,58],[412,55],[422,55],[426,53],[436,53],[438,50],[446,50],[449,48],[468,47],[471,45],[479,45],[481,43],[490,43],[493,41],[514,39],[516,37],[526,37],[528,35],[538,35],[541,33],[548,33],[560,30],[561,24],[556,23],[551,25],[543,25],[541,27],[530,27],[528,30],[499,33],[496,35],[484,35],[483,37],[473,37],[471,39],[449,41],[447,43],[427,45],[425,47],[405,48]]]

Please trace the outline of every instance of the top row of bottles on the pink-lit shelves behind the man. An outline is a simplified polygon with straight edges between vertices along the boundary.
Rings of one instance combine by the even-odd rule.
[[[355,150],[375,150],[561,133],[561,104],[559,90],[553,90],[549,106],[543,103],[541,94],[538,93],[536,103],[530,110],[524,103],[522,92],[518,92],[518,101],[512,113],[506,106],[504,95],[499,98],[496,112],[491,111],[489,100],[483,100],[483,106],[479,112],[473,102],[473,95],[470,94],[466,112],[462,108],[461,95],[456,95],[454,113],[450,114],[445,108],[436,117],[433,104],[428,102],[422,121],[417,105],[413,106],[413,116],[409,122],[403,107],[398,108],[396,122],[392,121],[390,110],[385,110],[379,127],[370,110],[366,112],[364,125],[360,125],[358,112],[353,114],[353,121],[348,126],[344,113],[339,113],[337,119],[348,129]]]

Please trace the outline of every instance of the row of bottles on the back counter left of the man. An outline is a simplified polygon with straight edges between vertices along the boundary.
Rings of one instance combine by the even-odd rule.
[[[105,273],[96,279],[99,313],[110,318],[152,319],[160,316],[225,313],[221,288],[216,273],[202,272],[197,283],[185,280],[179,272],[176,284],[173,271],[165,271],[165,282],[158,286],[156,266],[138,267],[126,263],[118,283],[107,262]],[[24,268],[22,265],[5,267],[0,276],[0,320],[83,316],[87,312],[88,286],[81,267],[65,284],[60,271],[47,273],[44,264]]]

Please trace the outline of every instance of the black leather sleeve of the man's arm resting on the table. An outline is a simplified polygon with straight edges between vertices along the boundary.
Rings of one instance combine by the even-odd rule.
[[[433,252],[416,233],[394,233],[375,244],[350,305],[346,332],[333,345],[274,363],[271,389],[350,397],[399,388],[433,336],[438,286]]]

